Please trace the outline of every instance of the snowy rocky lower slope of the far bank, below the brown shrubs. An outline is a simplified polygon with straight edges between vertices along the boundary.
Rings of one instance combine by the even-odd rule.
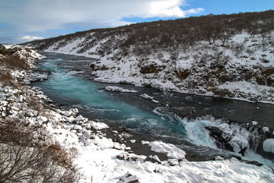
[[[94,80],[99,82],[130,83],[173,92],[273,103],[273,35],[274,32],[269,33],[268,38],[262,39],[260,35],[251,36],[243,30],[225,45],[221,40],[214,44],[200,41],[174,50],[159,49],[149,55],[134,55],[130,48],[123,54],[117,48],[102,56],[97,52],[100,45],[115,42],[115,39],[125,40],[127,36],[114,40],[111,36],[103,40],[95,37],[93,47],[79,51],[81,45],[85,45],[85,36],[93,39],[94,34],[88,33],[69,42],[52,42],[43,51],[97,58],[90,67]]]

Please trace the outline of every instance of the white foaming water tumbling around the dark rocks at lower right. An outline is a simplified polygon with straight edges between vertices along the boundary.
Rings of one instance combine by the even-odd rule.
[[[184,130],[186,131],[186,138],[188,141],[195,145],[201,145],[203,147],[212,147],[217,149],[214,144],[215,139],[210,137],[208,130],[206,130],[205,126],[216,126],[225,134],[230,135],[232,141],[230,145],[234,147],[235,152],[240,152],[241,149],[247,147],[245,151],[245,156],[242,156],[244,160],[256,160],[258,163],[262,163],[263,165],[268,165],[270,167],[274,167],[274,163],[271,160],[268,160],[259,154],[253,152],[253,150],[249,149],[249,139],[253,139],[254,134],[249,132],[247,129],[242,128],[238,124],[226,124],[222,119],[215,119],[214,117],[205,116],[205,117],[197,117],[197,119],[188,119],[188,118],[180,118],[176,114],[166,113],[164,110],[154,109],[154,113],[161,115],[164,118],[169,119],[178,119],[182,126],[184,126]],[[164,113],[164,114],[163,114]],[[173,117],[167,117],[167,115],[173,115]],[[175,116],[174,116],[175,115]],[[256,136],[256,134],[255,134]],[[257,146],[257,145],[256,145]],[[237,154],[241,156],[241,154]]]

